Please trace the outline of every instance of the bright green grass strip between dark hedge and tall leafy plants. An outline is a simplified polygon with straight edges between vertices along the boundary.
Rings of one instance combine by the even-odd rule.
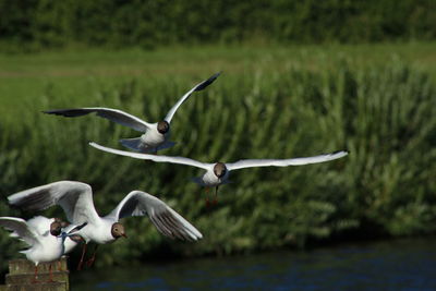
[[[289,66],[323,71],[340,60],[350,65],[380,65],[396,58],[426,71],[436,81],[436,43],[382,45],[322,45],[251,47],[171,47],[153,51],[64,50],[38,54],[0,54],[0,116],[19,113],[23,102],[37,106],[50,92],[66,95],[72,106],[82,106],[102,88],[132,78],[181,78],[186,86],[217,71],[225,77],[262,71],[286,71]],[[264,76],[265,77],[265,76]],[[38,108],[44,109],[44,108]],[[2,120],[10,124],[11,120]]]

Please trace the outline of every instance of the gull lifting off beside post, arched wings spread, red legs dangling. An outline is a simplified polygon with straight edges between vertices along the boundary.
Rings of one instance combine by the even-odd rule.
[[[98,216],[93,202],[93,190],[88,184],[75,181],[59,181],[47,185],[33,187],[8,197],[11,205],[25,210],[43,210],[53,205],[63,208],[66,219],[73,225],[87,222],[87,227],[75,234],[85,241],[78,269],[82,268],[83,258],[88,242],[106,244],[117,239],[126,238],[124,226],[119,222],[121,218],[131,216],[145,216],[155,225],[157,230],[171,239],[196,241],[203,235],[178,213],[155,196],[132,191],[107,216]],[[97,247],[96,247],[97,248]],[[93,264],[95,252],[88,262]]]

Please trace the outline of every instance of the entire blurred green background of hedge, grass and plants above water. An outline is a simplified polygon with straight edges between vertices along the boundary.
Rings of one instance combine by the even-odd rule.
[[[89,183],[100,215],[132,190],[170,204],[204,234],[170,241],[147,218],[97,266],[229,255],[436,232],[436,9],[432,0],[0,0],[0,213],[7,196]],[[101,106],[155,122],[192,86],[165,155],[203,161],[340,160],[232,173],[205,207],[198,169],[98,151],[137,133],[43,110]],[[57,208],[46,216],[62,217]],[[0,231],[0,268],[23,245]],[[73,253],[76,258],[80,252]]]

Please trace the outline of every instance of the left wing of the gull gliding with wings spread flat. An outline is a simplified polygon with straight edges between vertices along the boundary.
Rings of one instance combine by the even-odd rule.
[[[170,156],[158,156],[158,155],[131,153],[131,151],[125,151],[125,150],[120,150],[120,149],[101,146],[101,145],[93,143],[93,142],[90,142],[89,145],[95,148],[98,148],[100,150],[108,151],[108,153],[116,154],[116,155],[126,156],[126,157],[136,158],[136,159],[153,160],[156,162],[171,162],[171,163],[179,163],[179,165],[187,165],[187,166],[197,167],[197,168],[201,168],[204,170],[209,170],[210,167],[214,165],[214,163],[201,162],[201,161],[193,160],[190,158],[184,158],[184,157],[170,157]]]

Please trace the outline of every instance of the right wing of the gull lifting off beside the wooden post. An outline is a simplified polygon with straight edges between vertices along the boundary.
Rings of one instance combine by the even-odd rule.
[[[129,193],[106,218],[118,221],[124,217],[146,215],[157,230],[166,237],[187,241],[196,241],[203,238],[195,227],[165,202],[142,191]]]

